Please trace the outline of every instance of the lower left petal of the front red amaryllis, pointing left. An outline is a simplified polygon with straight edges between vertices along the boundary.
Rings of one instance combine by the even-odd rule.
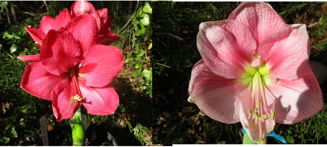
[[[26,66],[21,87],[33,96],[52,101],[52,89],[65,77],[49,73],[40,62],[31,62]]]

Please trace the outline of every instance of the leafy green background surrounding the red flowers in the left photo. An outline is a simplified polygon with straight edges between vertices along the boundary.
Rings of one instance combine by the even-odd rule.
[[[57,122],[53,116],[51,101],[36,98],[22,88],[20,81],[26,68],[25,62],[17,59],[21,55],[34,55],[40,49],[26,33],[25,26],[38,28],[45,15],[56,17],[59,11],[70,10],[74,1],[2,1],[0,5],[0,104],[6,112],[0,113],[1,145],[38,145],[41,141],[38,119],[46,115],[50,126],[65,126],[68,121]],[[119,145],[142,145],[149,143],[151,130],[152,101],[152,5],[151,2],[90,1],[96,9],[108,8],[112,16],[111,31],[120,41],[111,45],[123,51],[125,65],[112,82],[120,104],[113,115],[87,114],[88,124],[104,126]],[[12,7],[12,8],[11,8]],[[137,15],[135,15],[136,11]],[[136,31],[135,23],[144,30]],[[125,27],[124,27],[125,26]],[[137,32],[137,33],[136,33]],[[136,35],[137,34],[137,35]],[[150,46],[151,45],[151,46]],[[146,105],[142,105],[140,101]],[[126,123],[125,123],[126,121]],[[120,125],[126,124],[126,125]],[[128,125],[138,126],[138,133],[130,131]],[[6,128],[6,126],[9,126]],[[28,126],[28,127],[26,127]],[[14,131],[16,133],[14,133]],[[117,133],[118,132],[118,133]],[[119,132],[124,132],[120,136]],[[63,132],[63,134],[66,134]],[[143,136],[143,137],[142,137]],[[17,138],[15,138],[17,137]],[[126,141],[133,140],[135,141]]]

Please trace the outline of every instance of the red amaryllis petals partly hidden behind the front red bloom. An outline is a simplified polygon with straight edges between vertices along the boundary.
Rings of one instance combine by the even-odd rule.
[[[39,28],[26,26],[25,28],[28,34],[31,35],[37,45],[42,46],[42,40],[50,29],[58,30],[62,27],[66,28],[71,19],[81,14],[90,14],[96,20],[100,43],[102,45],[108,45],[109,43],[120,40],[117,34],[110,32],[111,16],[107,8],[95,10],[93,5],[87,1],[76,1],[71,8],[71,14],[69,14],[67,9],[64,9],[62,12],[60,11],[56,18],[44,16],[40,22]]]

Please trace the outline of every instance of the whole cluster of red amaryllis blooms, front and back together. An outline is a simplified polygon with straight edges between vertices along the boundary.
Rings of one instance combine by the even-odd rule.
[[[29,62],[21,87],[53,101],[58,121],[72,118],[80,105],[95,115],[116,110],[119,98],[110,82],[124,61],[119,48],[103,45],[117,41],[110,21],[107,9],[96,11],[89,2],[76,1],[70,15],[65,9],[56,18],[45,16],[39,28],[26,27],[42,48],[40,54],[18,57]]]

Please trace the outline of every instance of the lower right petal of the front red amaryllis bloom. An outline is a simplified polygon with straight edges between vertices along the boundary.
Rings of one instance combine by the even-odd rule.
[[[82,92],[83,106],[87,112],[94,115],[113,114],[119,104],[119,97],[111,84],[103,87],[86,86],[84,80],[78,78]]]

